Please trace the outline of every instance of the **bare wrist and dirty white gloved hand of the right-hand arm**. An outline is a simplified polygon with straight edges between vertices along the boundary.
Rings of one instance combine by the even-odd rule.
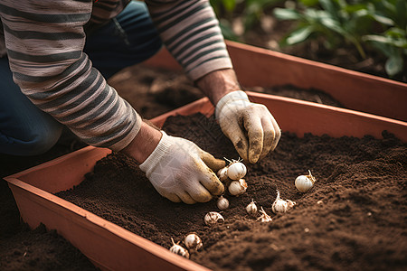
[[[243,160],[256,163],[279,143],[279,125],[267,107],[251,103],[232,69],[215,70],[196,81],[216,107],[223,134]]]

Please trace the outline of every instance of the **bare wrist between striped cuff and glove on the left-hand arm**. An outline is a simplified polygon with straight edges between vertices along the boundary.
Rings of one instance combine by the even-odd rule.
[[[159,129],[143,121],[135,138],[121,152],[141,164],[156,149],[162,135]]]

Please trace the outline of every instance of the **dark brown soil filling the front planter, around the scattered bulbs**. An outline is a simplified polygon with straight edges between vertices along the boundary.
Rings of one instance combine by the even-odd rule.
[[[216,157],[238,154],[213,117],[170,117],[169,135],[194,141]],[[161,197],[137,164],[109,154],[79,186],[58,196],[150,239],[164,248],[191,231],[204,248],[191,259],[214,270],[405,270],[407,267],[407,145],[383,139],[332,138],[283,133],[276,150],[247,164],[247,192],[222,211],[225,221],[208,227],[204,215],[216,201],[187,205]],[[310,170],[317,178],[307,193],[294,180]],[[273,214],[281,198],[293,209]],[[260,222],[246,213],[256,201],[272,217]],[[181,242],[182,245],[184,245]]]

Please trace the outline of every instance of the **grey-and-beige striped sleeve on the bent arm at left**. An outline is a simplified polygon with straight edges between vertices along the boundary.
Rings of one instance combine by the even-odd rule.
[[[118,151],[141,118],[83,52],[91,1],[2,0],[0,16],[14,81],[37,107],[80,138]]]

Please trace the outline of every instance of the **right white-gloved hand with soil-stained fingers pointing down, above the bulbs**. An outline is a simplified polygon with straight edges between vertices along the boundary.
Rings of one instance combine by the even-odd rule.
[[[252,103],[246,93],[233,91],[216,105],[216,119],[243,160],[256,163],[273,151],[281,131],[267,107]]]

